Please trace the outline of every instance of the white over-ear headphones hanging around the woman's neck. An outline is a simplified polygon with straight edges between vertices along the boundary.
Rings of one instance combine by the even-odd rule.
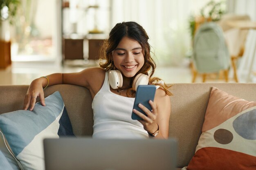
[[[139,85],[148,85],[148,75],[139,73],[132,82],[132,88],[137,90]],[[123,76],[119,70],[111,70],[108,73],[108,81],[113,89],[121,88],[123,86]]]

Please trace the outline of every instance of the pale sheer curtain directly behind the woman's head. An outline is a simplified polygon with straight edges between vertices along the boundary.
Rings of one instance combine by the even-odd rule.
[[[216,0],[218,1],[218,0]],[[184,65],[191,48],[189,17],[199,14],[206,0],[112,0],[112,26],[135,21],[144,27],[157,64]]]

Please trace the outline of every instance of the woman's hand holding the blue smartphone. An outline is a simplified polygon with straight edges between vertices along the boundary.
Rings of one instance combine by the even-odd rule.
[[[157,128],[158,128],[158,125],[156,122],[157,106],[152,100],[149,100],[148,103],[152,107],[152,111],[148,110],[148,108],[146,108],[142,104],[139,104],[139,108],[141,108],[141,110],[143,110],[146,113],[146,115],[144,115],[143,113],[139,112],[136,109],[133,109],[133,112],[136,113],[139,117],[141,117],[142,120],[138,120],[138,121],[144,126],[144,129],[148,133],[153,134],[155,131],[157,131]]]

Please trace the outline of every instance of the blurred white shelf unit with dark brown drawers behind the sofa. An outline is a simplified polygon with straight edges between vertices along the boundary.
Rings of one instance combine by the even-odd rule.
[[[63,64],[65,60],[97,60],[103,40],[108,38],[111,0],[63,1],[61,7],[61,36]],[[73,8],[72,8],[73,7]]]

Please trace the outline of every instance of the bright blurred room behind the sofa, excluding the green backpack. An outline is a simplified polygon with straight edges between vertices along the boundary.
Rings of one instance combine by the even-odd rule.
[[[0,85],[98,66],[101,43],[123,21],[144,27],[166,83],[256,83],[255,9],[256,0],[2,0]],[[229,51],[228,68],[216,73],[194,64],[206,22],[220,26]]]

